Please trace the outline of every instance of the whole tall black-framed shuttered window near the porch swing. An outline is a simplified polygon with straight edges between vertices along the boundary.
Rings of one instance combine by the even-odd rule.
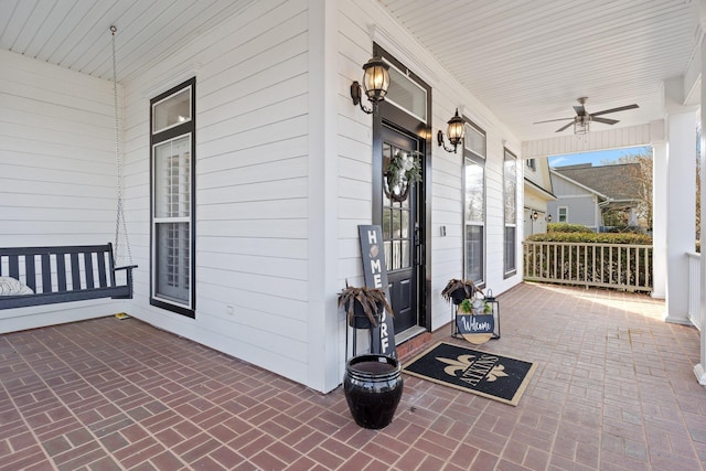
[[[195,79],[150,101],[150,303],[194,317]]]

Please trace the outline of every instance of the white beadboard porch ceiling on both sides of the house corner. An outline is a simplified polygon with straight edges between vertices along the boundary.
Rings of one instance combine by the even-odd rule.
[[[0,49],[111,78],[116,24],[121,81],[250,1],[0,0]],[[661,119],[663,82],[685,74],[702,39],[697,0],[378,2],[522,140],[557,136],[568,120],[533,122],[573,118],[581,96],[589,113],[640,106],[606,115],[613,127]]]

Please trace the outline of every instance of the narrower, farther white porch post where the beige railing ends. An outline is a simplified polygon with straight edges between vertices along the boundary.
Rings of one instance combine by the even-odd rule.
[[[666,290],[666,142],[664,121],[652,124],[652,297],[664,299]]]

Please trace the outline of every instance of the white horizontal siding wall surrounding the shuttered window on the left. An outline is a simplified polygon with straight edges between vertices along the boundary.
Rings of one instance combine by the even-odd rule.
[[[149,260],[149,98],[196,74],[196,318],[135,315],[307,383],[308,14],[254,2],[126,84],[126,188],[139,259]],[[148,92],[146,92],[148,90]],[[232,313],[231,313],[232,312]]]

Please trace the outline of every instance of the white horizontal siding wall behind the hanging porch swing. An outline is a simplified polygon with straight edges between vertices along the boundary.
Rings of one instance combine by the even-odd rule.
[[[0,246],[114,238],[113,84],[0,51]],[[0,332],[107,315],[96,300],[0,311]]]

